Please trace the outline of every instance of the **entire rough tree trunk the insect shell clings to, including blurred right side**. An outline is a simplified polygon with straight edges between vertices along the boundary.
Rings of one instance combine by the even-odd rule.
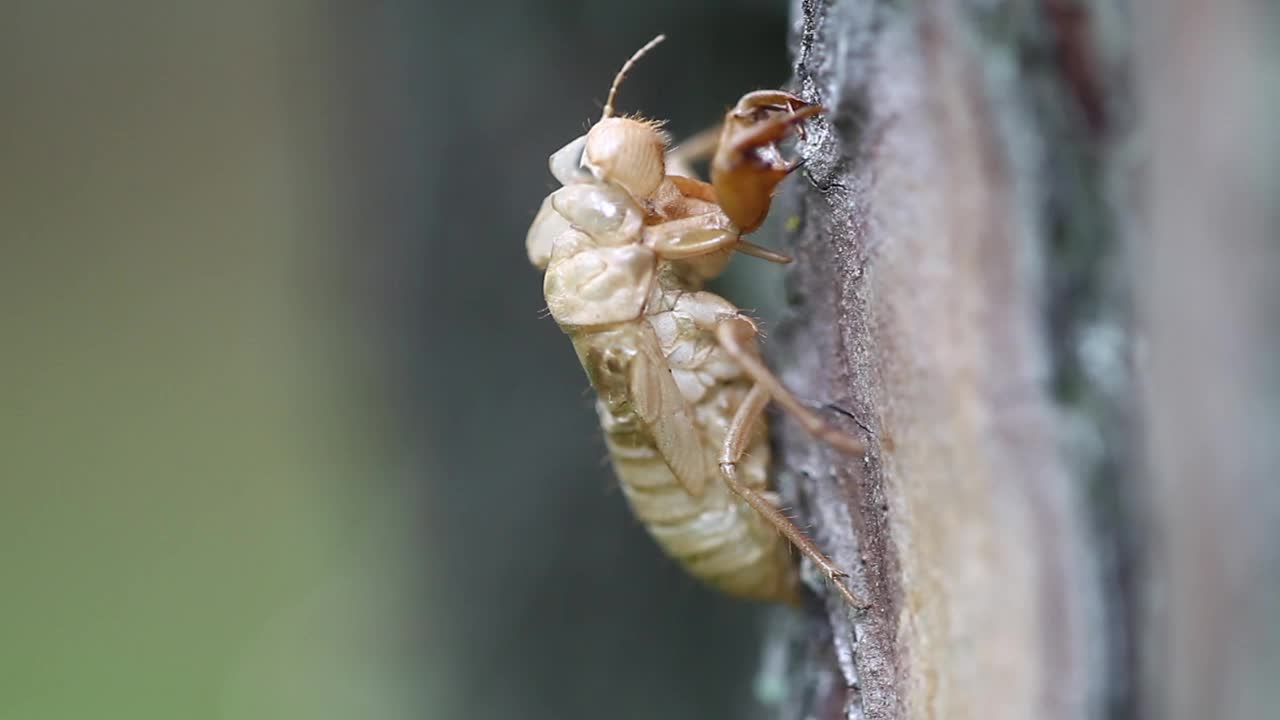
[[[1280,702],[1280,23],[1135,12],[794,8],[827,113],[771,350],[872,450],[782,423],[783,491],[872,606],[776,630],[788,717]]]

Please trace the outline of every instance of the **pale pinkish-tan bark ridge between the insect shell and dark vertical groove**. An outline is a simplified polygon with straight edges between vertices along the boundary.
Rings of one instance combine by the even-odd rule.
[[[1082,123],[1087,92],[1021,67],[1055,49],[1023,5],[804,0],[795,18],[796,86],[828,113],[803,143],[777,360],[872,451],[847,462],[788,428],[782,459],[873,601],[851,619],[828,600],[836,664],[812,650],[795,716],[1088,716],[1103,623],[1051,400],[1037,124],[1043,83]]]

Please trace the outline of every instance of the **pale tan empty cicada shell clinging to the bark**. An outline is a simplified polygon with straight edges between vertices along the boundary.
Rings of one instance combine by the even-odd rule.
[[[760,360],[755,323],[703,290],[735,251],[788,261],[741,236],[796,167],[777,142],[820,108],[782,91],[748,94],[726,115],[712,183],[668,174],[658,124],[613,115],[618,83],[660,40],[622,67],[602,119],[552,155],[563,187],[529,229],[529,258],[547,270],[548,309],[599,395],[623,492],[667,553],[724,592],[794,602],[781,533],[860,606],[768,491],[764,407],[778,402],[846,452],[863,443],[800,404]]]

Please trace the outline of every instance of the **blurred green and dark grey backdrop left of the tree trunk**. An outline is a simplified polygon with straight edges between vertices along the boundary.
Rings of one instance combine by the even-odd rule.
[[[758,712],[524,234],[635,47],[680,137],[786,12],[5,3],[0,720]]]

